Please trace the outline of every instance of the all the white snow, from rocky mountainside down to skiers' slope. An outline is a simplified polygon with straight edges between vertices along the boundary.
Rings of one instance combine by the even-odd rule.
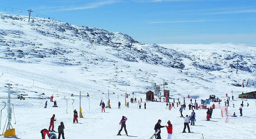
[[[238,98],[242,91],[255,91],[251,83],[241,87],[243,80],[246,85],[248,79],[256,79],[255,46],[232,43],[141,44],[134,41],[130,51],[132,38],[126,34],[49,19],[34,18],[34,22],[27,22],[27,19],[25,16],[0,14],[0,76],[3,73],[0,97],[1,102],[7,102],[10,83],[11,97],[14,98],[11,100],[14,105],[11,123],[17,138],[40,139],[40,130],[48,129],[50,118],[55,114],[55,130],[60,122],[64,122],[66,139],[148,139],[154,134],[158,119],[162,120],[161,125],[171,121],[172,139],[256,139],[255,99]],[[238,74],[233,67],[237,61]],[[170,90],[175,103],[177,98],[183,103],[185,97],[186,105],[190,100],[188,94],[193,97],[193,102],[197,99],[198,103],[200,99],[215,94],[223,100],[220,106],[224,106],[225,94],[228,93],[231,100],[233,90],[236,101],[230,101],[228,114],[236,112],[239,115],[243,100],[243,116],[228,117],[225,123],[226,117],[221,117],[221,109],[214,103],[216,109],[211,121],[205,121],[206,110],[196,110],[196,126],[191,127],[195,133],[181,133],[183,118],[180,118],[176,104],[169,111],[166,103],[148,101],[144,109],[145,92],[154,91],[152,83],[162,84],[163,79],[168,83],[165,89]],[[101,112],[101,99],[107,104],[106,94],[102,93],[108,93],[108,90],[112,109]],[[73,108],[79,112],[79,91],[82,95],[88,93],[89,99],[82,97],[84,118],[73,124]],[[142,98],[142,109],[138,108],[138,103],[125,107],[126,92],[130,94],[129,99],[132,96]],[[76,96],[71,97],[72,93]],[[52,107],[53,103],[49,101],[53,94],[58,107]],[[17,95],[26,99],[15,99]],[[48,106],[44,108],[46,100]],[[117,108],[118,101],[121,109]],[[0,103],[0,107],[4,108],[4,103]],[[188,106],[183,111],[183,115],[186,114],[191,114]],[[128,118],[128,135],[138,137],[116,136],[123,115]],[[1,135],[6,130],[6,118],[5,107],[1,113]],[[125,134],[124,130],[121,134]],[[161,128],[161,137],[167,138],[165,127]]]

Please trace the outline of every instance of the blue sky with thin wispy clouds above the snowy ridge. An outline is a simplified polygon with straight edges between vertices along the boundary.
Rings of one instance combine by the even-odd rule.
[[[141,43],[256,44],[256,0],[1,0],[1,12],[21,9]]]

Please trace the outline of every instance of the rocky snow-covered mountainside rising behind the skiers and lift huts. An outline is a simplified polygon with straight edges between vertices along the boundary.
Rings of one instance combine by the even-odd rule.
[[[161,83],[161,79],[165,79],[176,84],[170,88],[176,92],[175,88],[179,86],[193,84],[191,79],[232,88],[241,86],[243,79],[255,77],[254,46],[141,44],[119,32],[51,19],[35,18],[28,22],[28,17],[5,14],[1,14],[0,18],[1,63],[76,68],[79,78],[83,78],[82,84],[92,82],[120,91],[126,91],[127,85],[134,87],[130,91],[145,92],[152,89],[152,82]],[[238,75],[235,74],[237,61]],[[146,69],[145,65],[151,68]],[[157,68],[166,69],[166,72],[159,75]],[[44,72],[49,73],[50,70]],[[183,77],[174,78],[176,75],[170,74],[171,71]],[[58,74],[74,77],[74,73]],[[37,77],[31,77],[33,79],[37,80]],[[83,82],[85,80],[87,83]],[[186,91],[189,93],[189,90]]]

